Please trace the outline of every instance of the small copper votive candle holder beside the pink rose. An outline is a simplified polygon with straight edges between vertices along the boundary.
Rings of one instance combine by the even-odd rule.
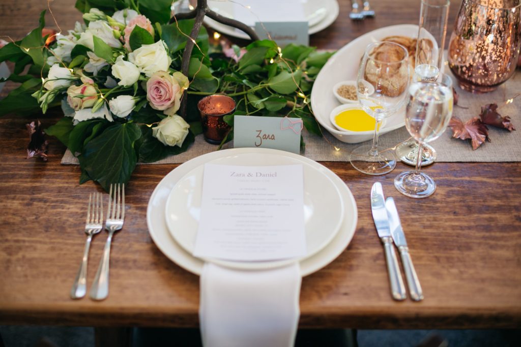
[[[213,145],[220,144],[230,131],[224,116],[233,113],[235,101],[226,95],[208,95],[199,100],[197,109],[201,114],[204,139]]]

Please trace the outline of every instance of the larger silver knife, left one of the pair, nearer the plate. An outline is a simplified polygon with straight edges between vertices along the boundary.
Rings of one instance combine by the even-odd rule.
[[[398,266],[398,259],[394,252],[386,204],[383,199],[383,190],[380,182],[375,183],[371,189],[371,211],[373,212],[376,231],[386,251],[387,272],[389,273],[392,297],[394,300],[404,300],[406,297],[405,286],[403,285],[402,274]]]

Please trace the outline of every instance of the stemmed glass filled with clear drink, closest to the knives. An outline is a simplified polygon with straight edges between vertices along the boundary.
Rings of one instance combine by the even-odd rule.
[[[450,79],[440,75],[439,79]],[[437,139],[452,117],[452,88],[439,81],[416,81],[408,89],[409,100],[405,110],[405,127],[420,144],[416,156],[416,170],[402,172],[394,178],[394,186],[412,198],[425,198],[436,190],[429,175],[420,172],[421,152],[425,143]]]

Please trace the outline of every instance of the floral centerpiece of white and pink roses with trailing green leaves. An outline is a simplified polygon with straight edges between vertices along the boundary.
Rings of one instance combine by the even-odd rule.
[[[104,188],[128,182],[138,160],[186,151],[201,132],[195,104],[204,95],[234,97],[236,114],[302,118],[320,134],[308,93],[331,53],[281,49],[269,40],[243,49],[210,46],[204,28],[197,37],[187,34],[193,20],[169,23],[170,6],[171,0],[78,0],[85,23],[66,35],[46,35],[42,12],[38,28],[0,49],[0,61],[14,62],[7,80],[21,83],[0,100],[0,116],[61,106],[64,117],[45,133],[77,156],[80,183],[92,179]],[[197,49],[185,76],[179,70],[187,40]],[[233,115],[226,121],[233,125]]]

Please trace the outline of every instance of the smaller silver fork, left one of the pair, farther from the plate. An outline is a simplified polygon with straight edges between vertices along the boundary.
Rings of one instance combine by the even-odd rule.
[[[78,274],[74,280],[74,284],[70,290],[72,299],[80,299],[87,292],[87,261],[89,259],[89,249],[91,248],[92,237],[101,232],[103,229],[103,197],[101,193],[95,192],[94,199],[92,193],[89,194],[89,206],[87,207],[87,218],[85,221],[85,249],[83,250],[83,259],[81,260]]]

